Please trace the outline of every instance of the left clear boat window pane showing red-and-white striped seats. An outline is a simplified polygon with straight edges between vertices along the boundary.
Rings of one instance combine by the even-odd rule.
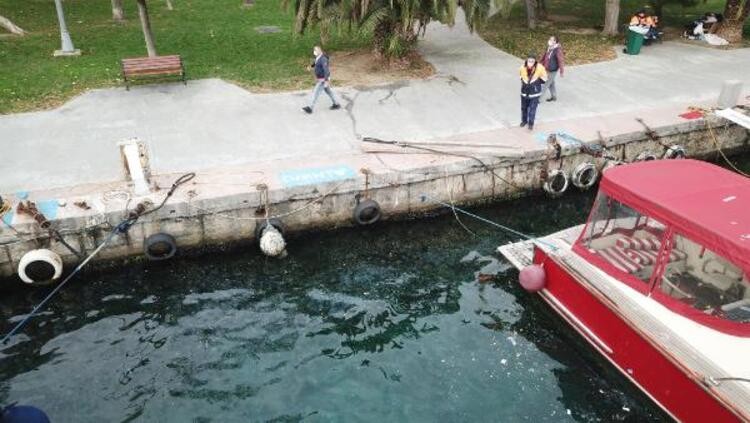
[[[664,238],[665,226],[599,193],[579,243],[599,267],[631,275],[647,287]]]

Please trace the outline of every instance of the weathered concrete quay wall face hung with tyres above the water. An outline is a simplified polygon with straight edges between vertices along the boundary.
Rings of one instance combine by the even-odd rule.
[[[709,119],[714,126],[718,143],[726,153],[750,150],[748,131]],[[584,140],[587,144],[604,145],[607,152],[622,161],[632,161],[643,152],[661,156],[665,146],[681,145],[689,157],[712,159],[717,156],[716,144],[703,120],[653,128],[658,135],[653,139],[644,131],[624,133],[606,140]],[[455,204],[476,204],[526,195],[541,189],[545,170],[561,166],[571,172],[583,162],[594,162],[602,168],[606,160],[581,152],[580,145],[562,143],[559,160],[550,157],[550,150],[540,145],[513,157],[457,158],[435,165],[410,169],[372,169],[367,177],[357,175],[341,181],[319,185],[284,188],[269,186],[269,213],[282,216],[287,233],[354,225],[353,209],[362,196],[377,201],[384,219],[425,213],[441,208],[435,200]],[[152,178],[158,185],[169,186],[174,175]],[[102,188],[103,190],[104,188]],[[575,189],[570,187],[569,189]],[[93,189],[96,191],[97,189]],[[157,190],[150,200],[158,204],[166,189]],[[84,255],[91,253],[112,228],[122,221],[128,209],[142,201],[139,198],[114,199],[105,207],[84,209],[72,207],[75,189],[70,195],[60,195],[59,203],[68,211],[51,218],[52,224],[66,242]],[[425,197],[425,194],[428,197]],[[90,194],[89,198],[93,198]],[[96,194],[102,197],[101,191]],[[33,196],[30,199],[35,199]],[[99,264],[121,262],[143,257],[143,241],[151,234],[165,232],[172,235],[181,251],[225,244],[245,244],[253,241],[256,225],[264,213],[261,192],[245,186],[233,193],[196,193],[186,185],[157,212],[141,217],[124,235],[115,236],[93,262]],[[559,201],[565,201],[560,197]],[[93,201],[92,201],[93,203]],[[63,258],[67,268],[79,259],[47,230],[30,218],[17,216],[13,229],[0,226],[0,278],[13,283],[21,257],[35,248],[49,248]],[[257,249],[255,250],[257,251]],[[257,251],[257,254],[260,254]]]

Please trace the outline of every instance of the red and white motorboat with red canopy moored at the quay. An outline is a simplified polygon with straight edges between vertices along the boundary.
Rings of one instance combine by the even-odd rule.
[[[750,420],[750,179],[696,160],[614,167],[585,225],[499,250],[675,420]]]

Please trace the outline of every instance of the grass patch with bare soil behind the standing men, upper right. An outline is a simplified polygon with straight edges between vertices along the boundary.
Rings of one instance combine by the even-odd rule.
[[[662,27],[679,34],[684,24],[707,11],[722,12],[724,0],[706,0],[695,7],[683,8],[670,4],[664,7]],[[632,14],[643,7],[643,0],[622,0],[620,22],[622,25]],[[621,46],[624,37],[605,37],[599,34],[604,25],[604,0],[547,0],[549,20],[538,29],[526,28],[523,2],[517,3],[510,19],[495,15],[480,30],[482,37],[497,48],[518,57],[529,52],[540,53],[546,48],[550,35],[558,35],[565,46],[569,64],[610,60],[616,57],[613,47]],[[672,29],[673,28],[673,29]],[[745,26],[745,37],[750,38],[750,22]]]

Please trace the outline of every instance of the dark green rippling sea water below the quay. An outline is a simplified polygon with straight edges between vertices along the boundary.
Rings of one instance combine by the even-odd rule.
[[[473,211],[542,235],[592,198]],[[665,418],[518,287],[495,252],[515,238],[462,222],[308,234],[283,260],[250,247],[86,273],[0,349],[0,404],[53,422]],[[0,299],[2,333],[44,294]]]

